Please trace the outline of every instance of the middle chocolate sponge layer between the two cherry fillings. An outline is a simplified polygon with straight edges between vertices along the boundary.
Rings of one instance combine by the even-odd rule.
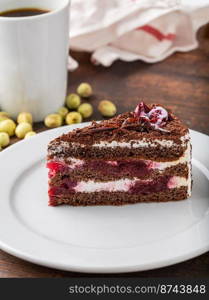
[[[188,174],[189,169],[187,163],[171,166],[164,170],[148,169],[139,164],[130,166],[130,168],[127,168],[126,166],[123,167],[123,165],[119,166],[119,168],[114,168],[114,166],[108,166],[108,164],[103,166],[103,168],[83,165],[82,167],[73,170],[62,168],[51,176],[50,185],[58,186],[62,184],[63,179],[66,178],[75,181],[94,180],[95,182],[105,182],[122,178],[154,179],[162,175],[188,178]]]

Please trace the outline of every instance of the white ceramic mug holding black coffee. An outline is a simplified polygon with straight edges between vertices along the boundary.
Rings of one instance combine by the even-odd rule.
[[[63,105],[67,87],[70,0],[0,0],[0,12],[39,8],[32,17],[0,17],[0,110],[41,121]]]

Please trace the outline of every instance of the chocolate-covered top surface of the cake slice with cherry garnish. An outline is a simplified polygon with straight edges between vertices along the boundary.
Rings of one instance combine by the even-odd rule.
[[[130,141],[142,138],[178,139],[188,128],[172,113],[159,104],[140,102],[133,112],[120,114],[101,122],[75,129],[56,141],[93,144],[99,141]]]

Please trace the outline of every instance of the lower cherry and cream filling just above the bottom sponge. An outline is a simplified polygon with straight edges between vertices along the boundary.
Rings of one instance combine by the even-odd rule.
[[[72,181],[65,178],[59,187],[51,187],[49,189],[49,196],[63,196],[76,192],[127,192],[129,194],[143,194],[158,193],[177,186],[175,176],[160,176],[154,180],[130,180],[121,179],[108,182],[95,181]]]

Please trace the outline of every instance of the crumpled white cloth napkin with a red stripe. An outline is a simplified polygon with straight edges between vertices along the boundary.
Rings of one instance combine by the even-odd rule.
[[[117,59],[154,63],[195,49],[208,21],[209,0],[72,0],[70,45],[106,67]],[[77,67],[70,57],[69,69]]]

